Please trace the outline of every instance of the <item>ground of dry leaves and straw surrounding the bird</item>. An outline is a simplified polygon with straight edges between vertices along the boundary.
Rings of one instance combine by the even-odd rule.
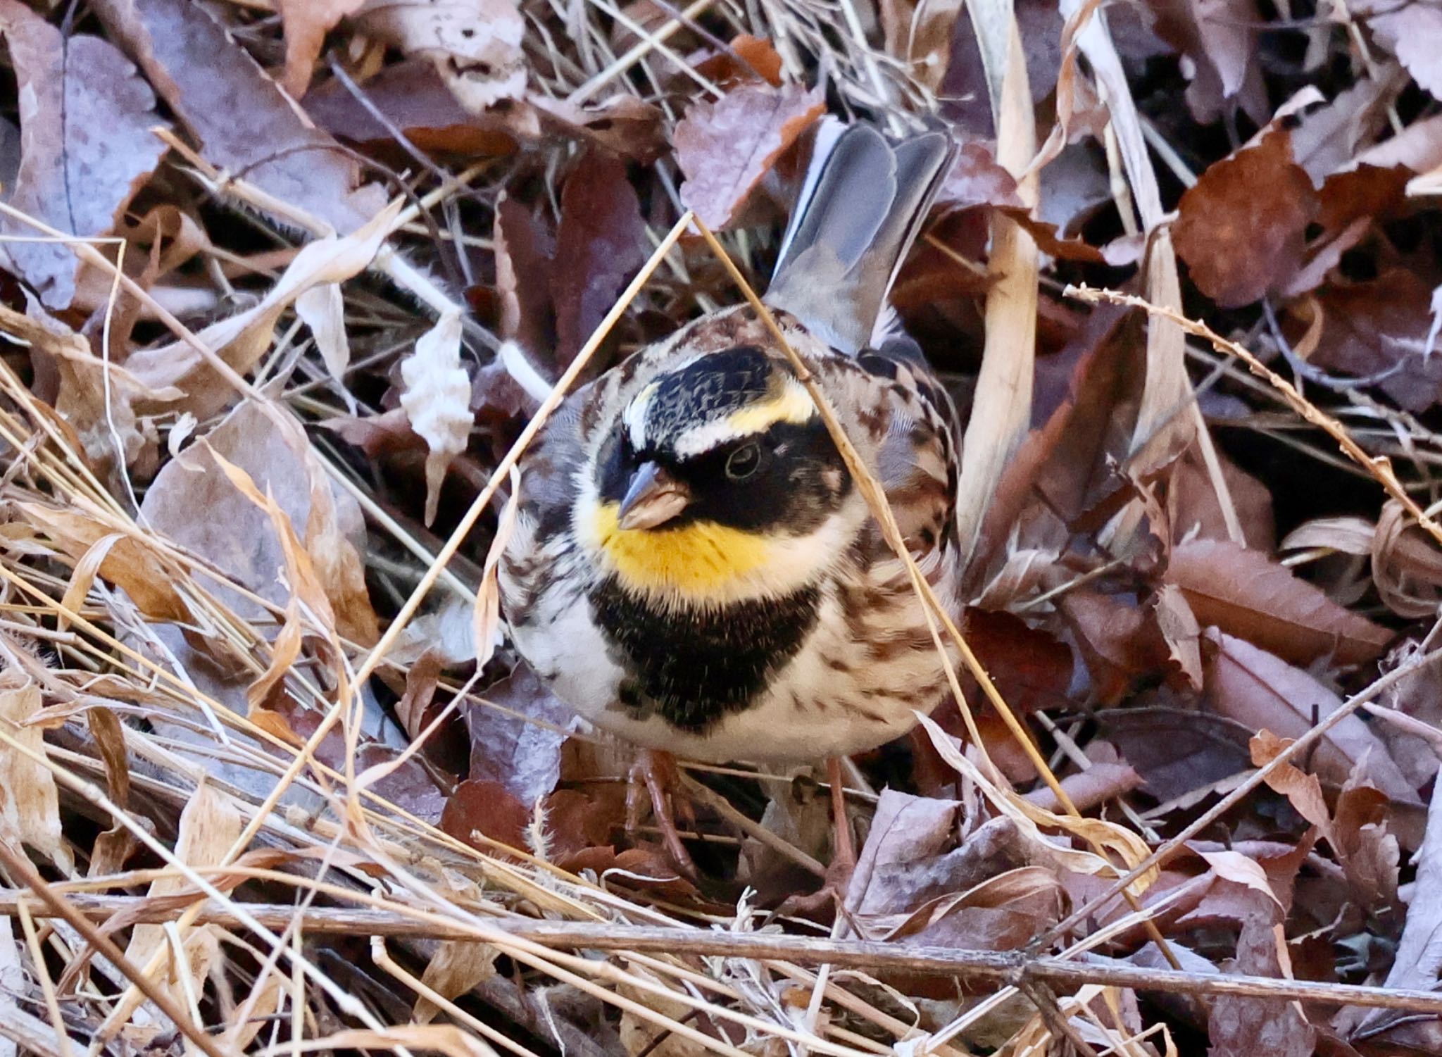
[[[1442,1051],[1433,16],[970,7],[0,0],[0,1057]],[[809,769],[678,877],[492,570],[828,110],[962,143],[969,410],[839,913]]]

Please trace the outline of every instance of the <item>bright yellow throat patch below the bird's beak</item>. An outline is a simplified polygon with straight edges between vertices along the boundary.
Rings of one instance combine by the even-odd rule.
[[[636,590],[720,597],[771,558],[770,544],[754,532],[707,521],[672,529],[623,529],[619,510],[619,503],[597,503],[588,528],[622,581]]]

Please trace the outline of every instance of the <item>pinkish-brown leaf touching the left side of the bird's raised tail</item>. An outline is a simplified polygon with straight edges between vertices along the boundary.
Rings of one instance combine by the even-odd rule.
[[[825,110],[822,92],[803,85],[741,85],[715,102],[691,104],[672,136],[686,176],[681,200],[712,231],[725,229]]]

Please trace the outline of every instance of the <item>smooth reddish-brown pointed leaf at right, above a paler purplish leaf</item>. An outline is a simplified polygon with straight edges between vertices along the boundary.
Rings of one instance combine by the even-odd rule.
[[[1172,548],[1167,583],[1187,598],[1197,620],[1309,665],[1331,659],[1360,665],[1381,656],[1392,632],[1328,598],[1259,551],[1220,539]]]

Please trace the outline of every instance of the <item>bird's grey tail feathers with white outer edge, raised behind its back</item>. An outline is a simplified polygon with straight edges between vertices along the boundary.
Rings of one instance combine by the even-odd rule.
[[[868,124],[823,128],[766,300],[845,352],[864,349],[952,156],[943,133],[893,146]]]

